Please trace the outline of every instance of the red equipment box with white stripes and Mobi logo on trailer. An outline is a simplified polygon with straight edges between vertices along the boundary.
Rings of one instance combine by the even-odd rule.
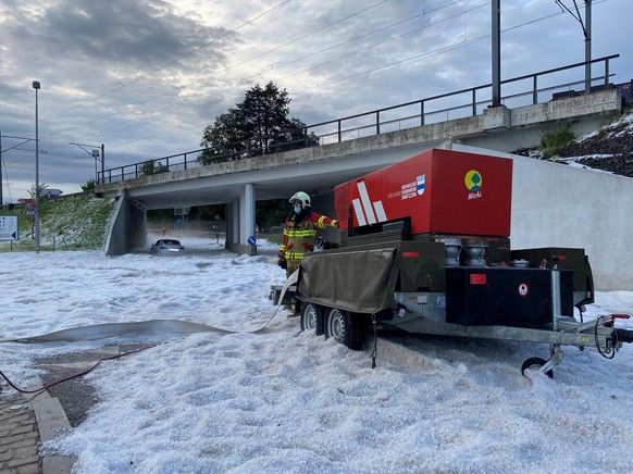
[[[335,189],[342,228],[411,217],[411,234],[510,236],[512,160],[432,149]]]

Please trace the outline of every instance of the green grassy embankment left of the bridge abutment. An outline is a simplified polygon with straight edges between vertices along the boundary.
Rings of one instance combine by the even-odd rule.
[[[113,199],[75,195],[40,202],[40,250],[101,250],[114,208]],[[0,252],[35,250],[35,222],[21,214],[26,209],[0,209],[0,215],[17,216],[17,241],[0,242]]]

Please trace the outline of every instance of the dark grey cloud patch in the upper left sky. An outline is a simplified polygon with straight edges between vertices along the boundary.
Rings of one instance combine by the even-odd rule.
[[[160,0],[63,0],[41,16],[23,9],[8,27],[13,38],[28,39],[50,55],[64,52],[139,67],[160,66],[226,33],[177,16]],[[225,47],[226,40],[219,40],[204,54],[221,61]]]

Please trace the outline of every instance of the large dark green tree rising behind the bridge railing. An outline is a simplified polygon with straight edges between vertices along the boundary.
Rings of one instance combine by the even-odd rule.
[[[263,89],[258,84],[247,90],[241,103],[207,125],[200,141],[204,151],[198,161],[210,164],[318,145],[303,122],[288,118],[289,103],[286,89],[280,90],[272,82]]]

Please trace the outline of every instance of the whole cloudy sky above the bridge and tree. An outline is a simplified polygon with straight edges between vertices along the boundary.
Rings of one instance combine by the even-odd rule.
[[[575,14],[573,0],[562,4]],[[3,201],[35,183],[33,80],[39,179],[69,194],[95,177],[94,146],[104,145],[107,169],[197,150],[204,126],[257,84],[286,89],[290,115],[308,125],[487,84],[491,10],[489,0],[0,0]],[[633,79],[631,0],[593,0],[592,11],[593,58],[621,54],[612,82]],[[555,0],[501,0],[501,29],[502,79],[584,61],[581,24]]]

